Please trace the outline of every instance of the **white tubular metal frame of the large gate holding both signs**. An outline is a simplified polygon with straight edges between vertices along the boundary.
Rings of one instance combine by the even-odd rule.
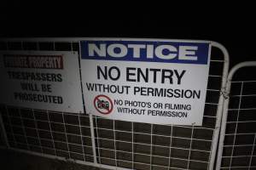
[[[223,62],[223,72],[222,72],[222,80],[221,80],[221,87],[219,88],[219,97],[218,97],[218,109],[216,111],[216,121],[215,121],[215,128],[213,130],[212,133],[212,147],[211,147],[211,154],[209,155],[209,160],[208,161],[208,169],[209,170],[213,170],[214,167],[214,163],[215,163],[215,156],[216,156],[216,151],[217,151],[217,147],[218,147],[218,134],[220,131],[220,124],[221,124],[221,117],[222,117],[222,113],[223,113],[223,109],[224,109],[224,91],[226,88],[226,82],[227,82],[227,77],[228,77],[228,71],[229,71],[229,65],[230,65],[230,56],[229,53],[227,51],[226,48],[224,48],[224,46],[219,43],[219,42],[213,42],[213,41],[207,41],[207,40],[183,40],[183,39],[158,39],[158,38],[124,38],[124,37],[33,37],[33,38],[3,38],[1,39],[3,42],[79,42],[79,49],[80,49],[80,53],[81,53],[81,48],[80,48],[80,41],[84,41],[84,40],[108,40],[109,38],[111,38],[112,40],[135,40],[135,39],[140,39],[140,40],[144,40],[144,41],[149,41],[149,40],[162,40],[162,41],[183,41],[183,42],[209,42],[209,45],[214,48],[218,48],[221,50],[221,52],[223,53],[223,60],[221,60],[221,62]],[[22,49],[21,49],[22,50]],[[210,55],[211,56],[211,55]],[[210,58],[211,59],[211,58]],[[79,63],[80,63],[80,54],[79,54]],[[79,68],[80,70],[81,68]],[[81,74],[81,72],[79,71],[79,73]],[[209,75],[208,75],[209,77]],[[82,79],[81,79],[82,81]],[[82,89],[82,85],[81,85],[81,89]],[[81,91],[82,93],[82,91]],[[94,162],[90,162],[90,161],[79,161],[79,160],[73,160],[73,159],[66,159],[64,157],[61,156],[52,156],[52,155],[47,155],[44,153],[38,153],[38,152],[34,152],[31,150],[21,150],[21,149],[16,149],[16,148],[12,148],[9,146],[9,141],[7,139],[7,135],[6,135],[6,131],[4,129],[3,126],[3,136],[5,138],[6,141],[6,145],[7,147],[1,147],[1,148],[6,148],[9,150],[16,150],[16,151],[20,151],[23,153],[27,153],[27,154],[32,154],[35,156],[44,156],[47,158],[51,158],[51,159],[58,159],[61,161],[73,161],[79,164],[83,164],[83,165],[88,165],[88,166],[93,166],[93,167],[102,167],[102,168],[108,168],[108,169],[120,169],[120,170],[129,170],[128,168],[124,168],[124,167],[114,167],[114,166],[109,166],[109,165],[105,165],[105,164],[101,164],[99,162],[97,162],[96,160],[96,139],[95,139],[95,134],[94,134],[94,125],[93,125],[93,117],[91,114],[88,114],[90,116],[90,132],[91,132],[91,142],[92,142],[92,148],[93,148],[93,157],[94,157]],[[0,114],[0,123],[2,124],[2,115]]]

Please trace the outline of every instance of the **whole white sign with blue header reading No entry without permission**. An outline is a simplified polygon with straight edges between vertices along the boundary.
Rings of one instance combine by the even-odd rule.
[[[131,122],[202,124],[210,42],[94,39],[80,43],[87,113]]]

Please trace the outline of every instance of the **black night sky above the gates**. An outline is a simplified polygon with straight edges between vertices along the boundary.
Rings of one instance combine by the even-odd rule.
[[[254,58],[253,4],[23,2],[1,7],[0,37],[153,37],[220,42],[230,65]]]

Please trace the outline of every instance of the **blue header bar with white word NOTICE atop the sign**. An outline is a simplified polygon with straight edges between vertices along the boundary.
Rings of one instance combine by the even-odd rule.
[[[209,42],[82,41],[82,59],[207,65]]]

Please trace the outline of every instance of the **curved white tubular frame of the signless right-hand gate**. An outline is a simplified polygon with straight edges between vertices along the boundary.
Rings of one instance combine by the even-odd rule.
[[[236,71],[244,67],[256,66],[256,61],[245,61],[241,62],[232,67],[230,73],[227,78],[226,88],[224,90],[224,107],[223,107],[223,114],[222,114],[222,121],[221,121],[221,129],[219,133],[219,140],[218,140],[218,155],[217,155],[217,162],[216,162],[216,170],[220,169],[221,161],[222,161],[222,154],[223,154],[223,146],[224,146],[224,136],[226,131],[227,125],[227,117],[229,111],[229,104],[230,104],[230,89],[231,89],[231,82],[232,78],[235,75]]]

